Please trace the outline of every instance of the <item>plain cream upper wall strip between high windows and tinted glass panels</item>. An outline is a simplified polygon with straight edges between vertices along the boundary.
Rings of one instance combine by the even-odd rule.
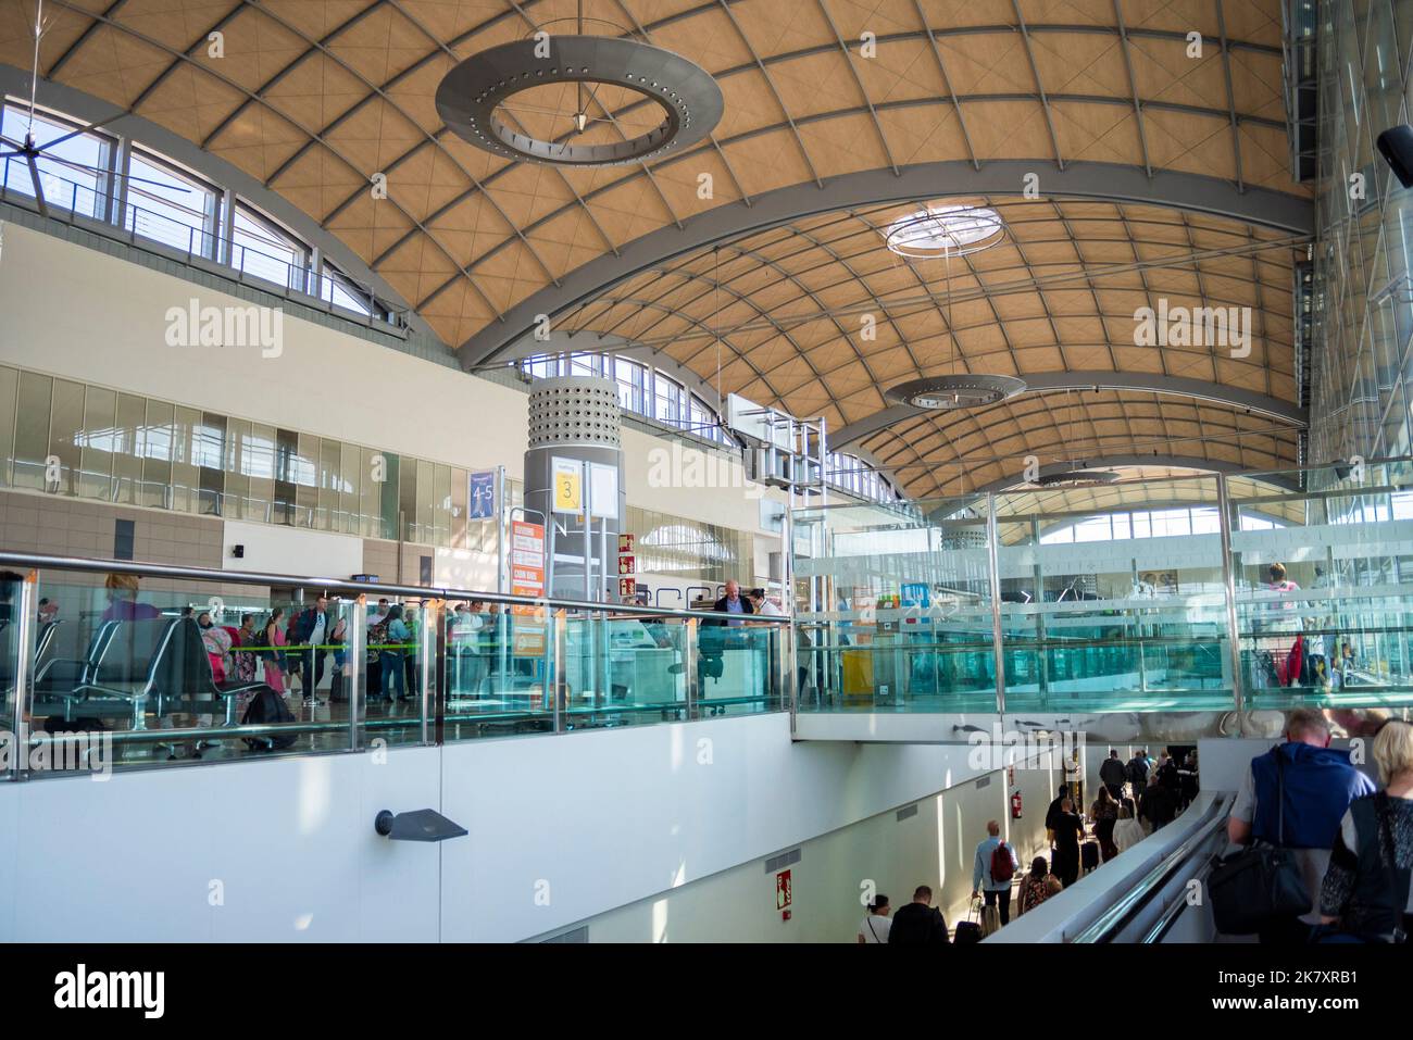
[[[278,356],[168,346],[167,309],[247,301],[14,223],[0,226],[0,362],[469,469],[523,473],[527,396],[444,365],[285,315]],[[623,431],[629,503],[740,530],[760,509],[725,489],[660,486]],[[739,463],[732,463],[739,472]]]

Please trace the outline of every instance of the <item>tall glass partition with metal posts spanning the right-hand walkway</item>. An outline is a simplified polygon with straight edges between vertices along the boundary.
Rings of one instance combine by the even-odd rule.
[[[793,517],[801,711],[1413,705],[1407,459]]]

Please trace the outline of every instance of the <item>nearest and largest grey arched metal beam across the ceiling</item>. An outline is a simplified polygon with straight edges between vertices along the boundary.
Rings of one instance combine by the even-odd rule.
[[[955,195],[1020,195],[1023,178],[1033,168],[1034,161],[1027,160],[995,160],[981,170],[968,161],[921,162],[901,167],[899,177],[892,170],[865,170],[829,178],[817,191],[801,191],[800,185],[777,188],[756,196],[756,205],[749,209],[716,206],[685,220],[681,230],[661,228],[623,246],[617,257],[599,257],[578,267],[564,276],[560,287],[540,290],[507,311],[502,321],[473,335],[462,343],[458,353],[468,367],[493,360],[507,343],[537,324],[537,315],[554,318],[643,270],[739,235],[817,213],[882,202]],[[1171,206],[1301,235],[1314,229],[1314,206],[1310,199],[1251,187],[1238,192],[1229,181],[1198,174],[1164,170],[1150,178],[1136,165],[1071,162],[1064,170],[1050,170],[1044,188],[1048,198]]]

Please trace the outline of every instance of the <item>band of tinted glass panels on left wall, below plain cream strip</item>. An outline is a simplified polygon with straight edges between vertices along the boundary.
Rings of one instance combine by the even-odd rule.
[[[468,524],[468,483],[459,466],[0,366],[0,489],[367,538],[401,524],[407,541],[493,551],[495,524]]]

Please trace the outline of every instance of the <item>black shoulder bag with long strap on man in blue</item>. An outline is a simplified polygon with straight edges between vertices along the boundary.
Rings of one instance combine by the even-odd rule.
[[[1217,930],[1226,935],[1251,935],[1273,918],[1310,910],[1310,892],[1300,875],[1300,862],[1294,849],[1284,848],[1286,769],[1280,752],[1275,755],[1276,844],[1256,841],[1241,852],[1215,856],[1207,879]]]

